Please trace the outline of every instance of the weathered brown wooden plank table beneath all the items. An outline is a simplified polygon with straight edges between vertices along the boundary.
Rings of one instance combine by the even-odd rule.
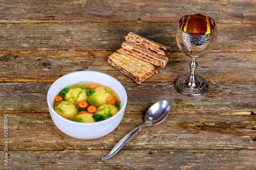
[[[14,0],[0,9],[1,169],[256,169],[255,1]],[[188,13],[207,14],[218,28],[214,49],[197,60],[209,88],[196,98],[175,89],[189,72],[175,41]],[[129,32],[173,48],[166,67],[141,84],[107,62]],[[128,96],[117,129],[94,140],[59,131],[46,101],[56,79],[80,70],[113,76]],[[102,161],[161,100],[171,106],[164,122]]]

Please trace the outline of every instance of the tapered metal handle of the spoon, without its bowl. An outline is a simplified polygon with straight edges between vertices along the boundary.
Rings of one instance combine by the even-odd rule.
[[[142,126],[142,125],[141,125]],[[104,156],[103,158],[101,158],[101,160],[106,160],[111,158],[112,156],[114,156],[121,148],[123,148],[124,144],[127,143],[127,141],[129,141],[140,129],[141,126],[139,126],[138,128],[135,128],[134,130],[132,130],[131,132],[129,132],[127,135],[125,135],[116,145],[115,147],[112,149],[112,151]]]

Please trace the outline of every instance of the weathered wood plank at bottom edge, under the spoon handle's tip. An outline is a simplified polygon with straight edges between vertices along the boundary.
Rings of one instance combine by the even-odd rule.
[[[103,161],[100,158],[107,151],[10,151],[5,169],[255,169],[255,153],[255,150],[153,149],[120,151]]]

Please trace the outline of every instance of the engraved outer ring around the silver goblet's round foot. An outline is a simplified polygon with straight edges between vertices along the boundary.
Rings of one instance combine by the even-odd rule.
[[[200,81],[200,87],[198,88],[191,88],[184,85],[186,79],[188,79],[189,75],[183,75],[178,78],[176,81],[175,87],[177,91],[184,95],[200,95],[204,93],[208,88],[207,81],[202,76],[197,76],[197,79]]]

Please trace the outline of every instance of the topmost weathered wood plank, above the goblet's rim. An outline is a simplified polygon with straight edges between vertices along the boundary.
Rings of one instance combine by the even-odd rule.
[[[31,1],[1,3],[1,22],[172,21],[188,13],[208,14],[217,22],[255,22],[250,1]]]

